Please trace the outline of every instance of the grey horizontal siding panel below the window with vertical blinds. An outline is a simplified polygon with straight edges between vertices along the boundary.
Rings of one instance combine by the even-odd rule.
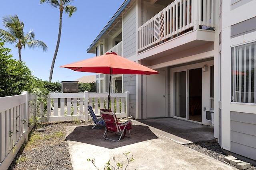
[[[256,160],[256,114],[231,112],[230,151]]]

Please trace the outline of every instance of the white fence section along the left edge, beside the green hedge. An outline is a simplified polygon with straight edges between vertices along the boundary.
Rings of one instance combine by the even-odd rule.
[[[36,95],[0,97],[0,170],[7,170],[28,134],[37,114]]]

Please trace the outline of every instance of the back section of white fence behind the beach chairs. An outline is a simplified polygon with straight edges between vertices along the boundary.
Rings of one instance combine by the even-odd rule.
[[[130,112],[130,92],[111,93],[111,108],[118,118],[128,117]],[[100,109],[108,108],[108,93],[54,93],[47,98],[46,122],[56,121],[88,121],[91,119],[87,106],[100,115]]]

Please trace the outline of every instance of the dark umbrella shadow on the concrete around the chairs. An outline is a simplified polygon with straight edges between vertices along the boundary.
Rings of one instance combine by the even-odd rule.
[[[126,145],[131,145],[134,143],[139,143],[143,141],[148,141],[152,139],[158,139],[158,137],[149,129],[148,126],[142,125],[132,125],[131,138],[128,137],[128,133],[126,133],[127,137],[121,139],[119,142],[114,142],[110,140],[106,140],[103,138],[105,129],[93,129],[92,125],[90,126],[79,126],[70,133],[66,137],[67,141],[76,141],[81,143],[87,143],[90,145],[95,145],[98,147],[105,147],[108,149],[115,149],[118,147],[123,147]],[[118,139],[120,136],[113,133],[108,133],[108,137]]]

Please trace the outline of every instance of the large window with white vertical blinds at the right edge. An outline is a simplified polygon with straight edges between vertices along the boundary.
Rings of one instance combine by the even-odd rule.
[[[232,102],[256,103],[256,43],[232,48]]]

